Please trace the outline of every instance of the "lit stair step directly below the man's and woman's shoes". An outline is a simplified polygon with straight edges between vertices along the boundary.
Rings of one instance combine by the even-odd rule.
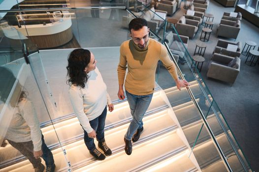
[[[87,167],[74,170],[74,172],[103,172],[107,171],[107,168],[110,172],[132,172],[135,171],[134,169],[145,166],[150,161],[160,159],[172,152],[176,154],[185,149],[187,147],[176,134],[176,131],[171,131],[152,140],[134,145],[130,156],[122,150],[107,157],[103,162],[95,162]]]

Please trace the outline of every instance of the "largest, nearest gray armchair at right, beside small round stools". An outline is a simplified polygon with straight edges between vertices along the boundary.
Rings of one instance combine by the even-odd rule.
[[[236,60],[235,67],[237,68],[229,66],[230,61],[233,59],[234,57],[228,57],[216,53],[213,54],[208,67],[207,77],[233,84],[240,71],[239,58]]]

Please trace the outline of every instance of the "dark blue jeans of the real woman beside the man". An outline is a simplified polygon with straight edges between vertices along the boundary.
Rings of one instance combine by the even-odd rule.
[[[104,110],[102,111],[101,115],[97,118],[89,121],[91,127],[96,131],[96,139],[98,142],[104,142],[104,126],[105,126],[105,119],[107,115],[107,108],[105,106]],[[84,130],[84,141],[89,151],[94,151],[96,148],[94,139],[89,138],[87,132]]]

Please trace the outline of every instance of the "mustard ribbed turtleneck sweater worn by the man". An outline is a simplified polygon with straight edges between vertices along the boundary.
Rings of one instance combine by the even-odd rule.
[[[160,42],[149,38],[147,47],[140,49],[130,39],[122,43],[120,48],[120,62],[118,65],[119,85],[135,95],[148,95],[154,92],[155,74],[158,61],[161,60],[174,80],[178,79],[175,64],[167,54],[167,50]]]

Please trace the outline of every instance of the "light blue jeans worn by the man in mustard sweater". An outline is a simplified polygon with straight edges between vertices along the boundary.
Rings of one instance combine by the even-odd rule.
[[[125,134],[125,138],[130,141],[137,129],[140,129],[143,126],[142,118],[150,105],[153,93],[148,95],[134,95],[126,90],[126,95],[130,113],[133,117],[129,124],[128,131]]]

